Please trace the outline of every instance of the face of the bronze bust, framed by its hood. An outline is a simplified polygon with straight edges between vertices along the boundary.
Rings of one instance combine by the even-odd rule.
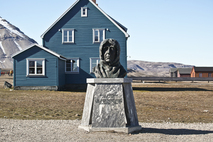
[[[106,44],[103,47],[103,55],[104,55],[104,60],[107,63],[113,62],[116,56],[116,47],[114,47],[114,45],[112,44]]]

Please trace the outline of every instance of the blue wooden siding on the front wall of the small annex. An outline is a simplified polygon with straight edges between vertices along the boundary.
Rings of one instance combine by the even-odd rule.
[[[26,76],[27,58],[45,58],[45,76]],[[36,46],[14,57],[14,86],[58,86],[58,57]]]

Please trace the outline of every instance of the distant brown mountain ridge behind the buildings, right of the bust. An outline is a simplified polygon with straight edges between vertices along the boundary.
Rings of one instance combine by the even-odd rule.
[[[140,60],[128,60],[127,70],[129,77],[169,77],[170,68],[191,68],[193,65],[185,65],[173,62],[148,62]]]

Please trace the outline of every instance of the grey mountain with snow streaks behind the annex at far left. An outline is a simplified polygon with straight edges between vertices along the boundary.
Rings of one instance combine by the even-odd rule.
[[[13,68],[11,56],[36,43],[19,28],[0,17],[0,68]]]

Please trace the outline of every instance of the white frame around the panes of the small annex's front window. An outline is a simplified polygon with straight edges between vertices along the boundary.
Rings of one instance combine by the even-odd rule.
[[[34,61],[35,62],[35,73],[31,74],[29,73],[29,62]],[[37,61],[42,61],[42,74],[37,74]],[[45,76],[45,59],[44,58],[27,58],[26,59],[26,76]]]

